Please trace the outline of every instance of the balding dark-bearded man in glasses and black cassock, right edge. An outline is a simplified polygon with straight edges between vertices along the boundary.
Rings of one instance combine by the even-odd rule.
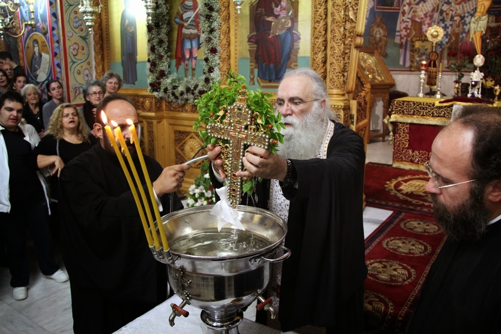
[[[448,236],[407,333],[501,332],[501,110],[462,108],[425,164],[426,191]]]

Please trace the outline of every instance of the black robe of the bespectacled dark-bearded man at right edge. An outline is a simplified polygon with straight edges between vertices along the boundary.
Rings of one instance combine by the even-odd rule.
[[[447,240],[406,333],[501,333],[501,221],[478,241]]]

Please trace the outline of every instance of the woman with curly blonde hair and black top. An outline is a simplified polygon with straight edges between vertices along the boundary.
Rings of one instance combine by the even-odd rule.
[[[90,149],[93,143],[89,139],[89,129],[81,117],[74,105],[60,104],[54,110],[49,128],[35,148],[35,152],[57,155],[67,164],[80,153]],[[58,199],[58,178],[55,176],[51,178],[51,199],[54,201]]]

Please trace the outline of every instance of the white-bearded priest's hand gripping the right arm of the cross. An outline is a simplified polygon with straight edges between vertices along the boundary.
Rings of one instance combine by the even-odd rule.
[[[249,146],[242,158],[245,172],[236,172],[237,177],[262,177],[283,181],[287,175],[287,160],[257,146]]]

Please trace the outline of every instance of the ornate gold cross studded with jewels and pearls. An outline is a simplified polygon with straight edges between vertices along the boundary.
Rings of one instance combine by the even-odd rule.
[[[221,107],[219,113],[214,115],[215,123],[207,124],[207,132],[210,137],[219,141],[216,145],[221,147],[223,169],[228,183],[227,199],[235,208],[241,201],[242,178],[233,176],[234,173],[243,170],[242,158],[245,149],[250,146],[258,146],[268,149],[270,136],[264,134],[264,129],[250,125],[253,113],[247,107],[246,89],[238,90],[238,98],[231,106]],[[225,118],[221,121],[222,116]],[[259,124],[259,122],[258,122]],[[221,140],[229,141],[229,144]]]

